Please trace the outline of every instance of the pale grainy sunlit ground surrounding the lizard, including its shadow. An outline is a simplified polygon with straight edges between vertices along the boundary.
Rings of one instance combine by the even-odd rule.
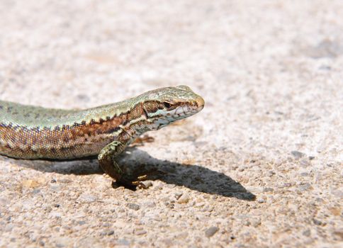
[[[343,3],[0,1],[0,96],[87,108],[186,84],[116,187],[96,159],[0,157],[1,247],[342,247]]]

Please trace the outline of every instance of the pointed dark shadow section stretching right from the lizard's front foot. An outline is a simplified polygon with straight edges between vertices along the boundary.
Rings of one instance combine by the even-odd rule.
[[[146,171],[157,170],[149,179],[161,180],[167,184],[185,186],[195,191],[235,197],[240,200],[254,201],[256,196],[247,191],[242,184],[223,173],[201,167],[196,164],[180,164],[151,157],[147,152],[136,147],[128,149],[130,156],[119,157],[120,164],[131,167],[133,164],[144,167]],[[148,172],[149,173],[149,172]],[[144,174],[144,172],[143,172]]]

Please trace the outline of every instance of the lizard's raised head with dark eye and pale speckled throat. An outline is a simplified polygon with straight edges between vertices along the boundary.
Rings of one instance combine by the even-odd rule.
[[[141,95],[143,109],[150,128],[159,129],[203,109],[205,101],[189,86],[166,87],[148,91]]]

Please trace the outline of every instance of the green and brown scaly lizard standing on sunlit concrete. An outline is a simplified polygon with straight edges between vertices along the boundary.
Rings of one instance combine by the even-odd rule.
[[[204,104],[184,85],[84,110],[0,101],[0,154],[54,160],[97,155],[101,169],[117,184],[137,186],[140,177],[125,173],[116,157],[142,133],[198,113]]]

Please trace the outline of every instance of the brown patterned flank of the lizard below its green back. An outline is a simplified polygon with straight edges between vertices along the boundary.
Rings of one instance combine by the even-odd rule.
[[[13,124],[0,125],[0,153],[22,158],[69,158],[96,154],[103,146],[114,140],[119,125],[145,115],[138,103],[127,113],[114,117],[81,121],[74,125],[52,128],[26,128]]]

